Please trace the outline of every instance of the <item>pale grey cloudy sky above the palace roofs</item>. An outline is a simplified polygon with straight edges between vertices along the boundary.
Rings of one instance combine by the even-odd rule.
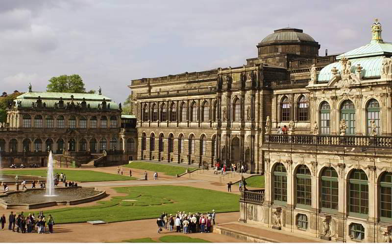
[[[119,103],[132,79],[242,66],[279,28],[303,29],[320,56],[354,49],[374,18],[392,42],[387,0],[1,0],[0,92],[79,74]]]

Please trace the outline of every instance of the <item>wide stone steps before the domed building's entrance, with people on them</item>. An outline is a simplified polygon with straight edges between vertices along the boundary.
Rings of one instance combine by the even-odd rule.
[[[241,173],[232,173],[232,172],[226,172],[226,175],[214,175],[214,170],[196,170],[191,173],[185,174],[181,177],[189,177],[190,179],[200,179],[200,180],[206,180],[206,181],[211,181],[211,182],[219,182],[222,184],[227,184],[230,181],[234,184],[238,181],[241,180]],[[243,174],[245,178],[250,177],[251,175],[249,174]]]

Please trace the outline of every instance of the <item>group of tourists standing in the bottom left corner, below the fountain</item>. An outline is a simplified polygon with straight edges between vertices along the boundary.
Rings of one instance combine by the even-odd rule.
[[[0,217],[0,222],[1,230],[4,230],[6,223],[4,214]],[[24,216],[23,211],[18,215],[11,211],[11,214],[8,217],[8,230],[15,232],[16,226],[16,232],[18,233],[36,232],[38,234],[45,234],[47,231],[49,231],[49,233],[53,233],[53,225],[53,217],[49,214],[48,218],[46,218],[42,210],[40,211],[38,217],[35,217],[34,213],[28,214],[28,216]],[[35,226],[37,226],[37,229]]]

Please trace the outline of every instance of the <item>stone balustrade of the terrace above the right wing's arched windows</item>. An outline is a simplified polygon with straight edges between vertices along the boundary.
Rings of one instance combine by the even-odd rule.
[[[264,146],[271,144],[314,145],[323,147],[392,148],[392,137],[362,135],[265,135]]]

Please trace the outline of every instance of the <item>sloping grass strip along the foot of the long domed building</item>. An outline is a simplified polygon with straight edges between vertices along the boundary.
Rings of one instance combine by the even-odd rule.
[[[123,167],[131,168],[131,169],[141,169],[141,170],[148,170],[148,171],[156,171],[161,172],[169,176],[181,175],[185,173],[187,168],[181,166],[172,166],[167,164],[159,164],[159,163],[146,163],[146,162],[138,162],[134,161],[130,164],[125,164]],[[191,170],[194,167],[189,167]],[[158,174],[159,177],[159,174]]]

